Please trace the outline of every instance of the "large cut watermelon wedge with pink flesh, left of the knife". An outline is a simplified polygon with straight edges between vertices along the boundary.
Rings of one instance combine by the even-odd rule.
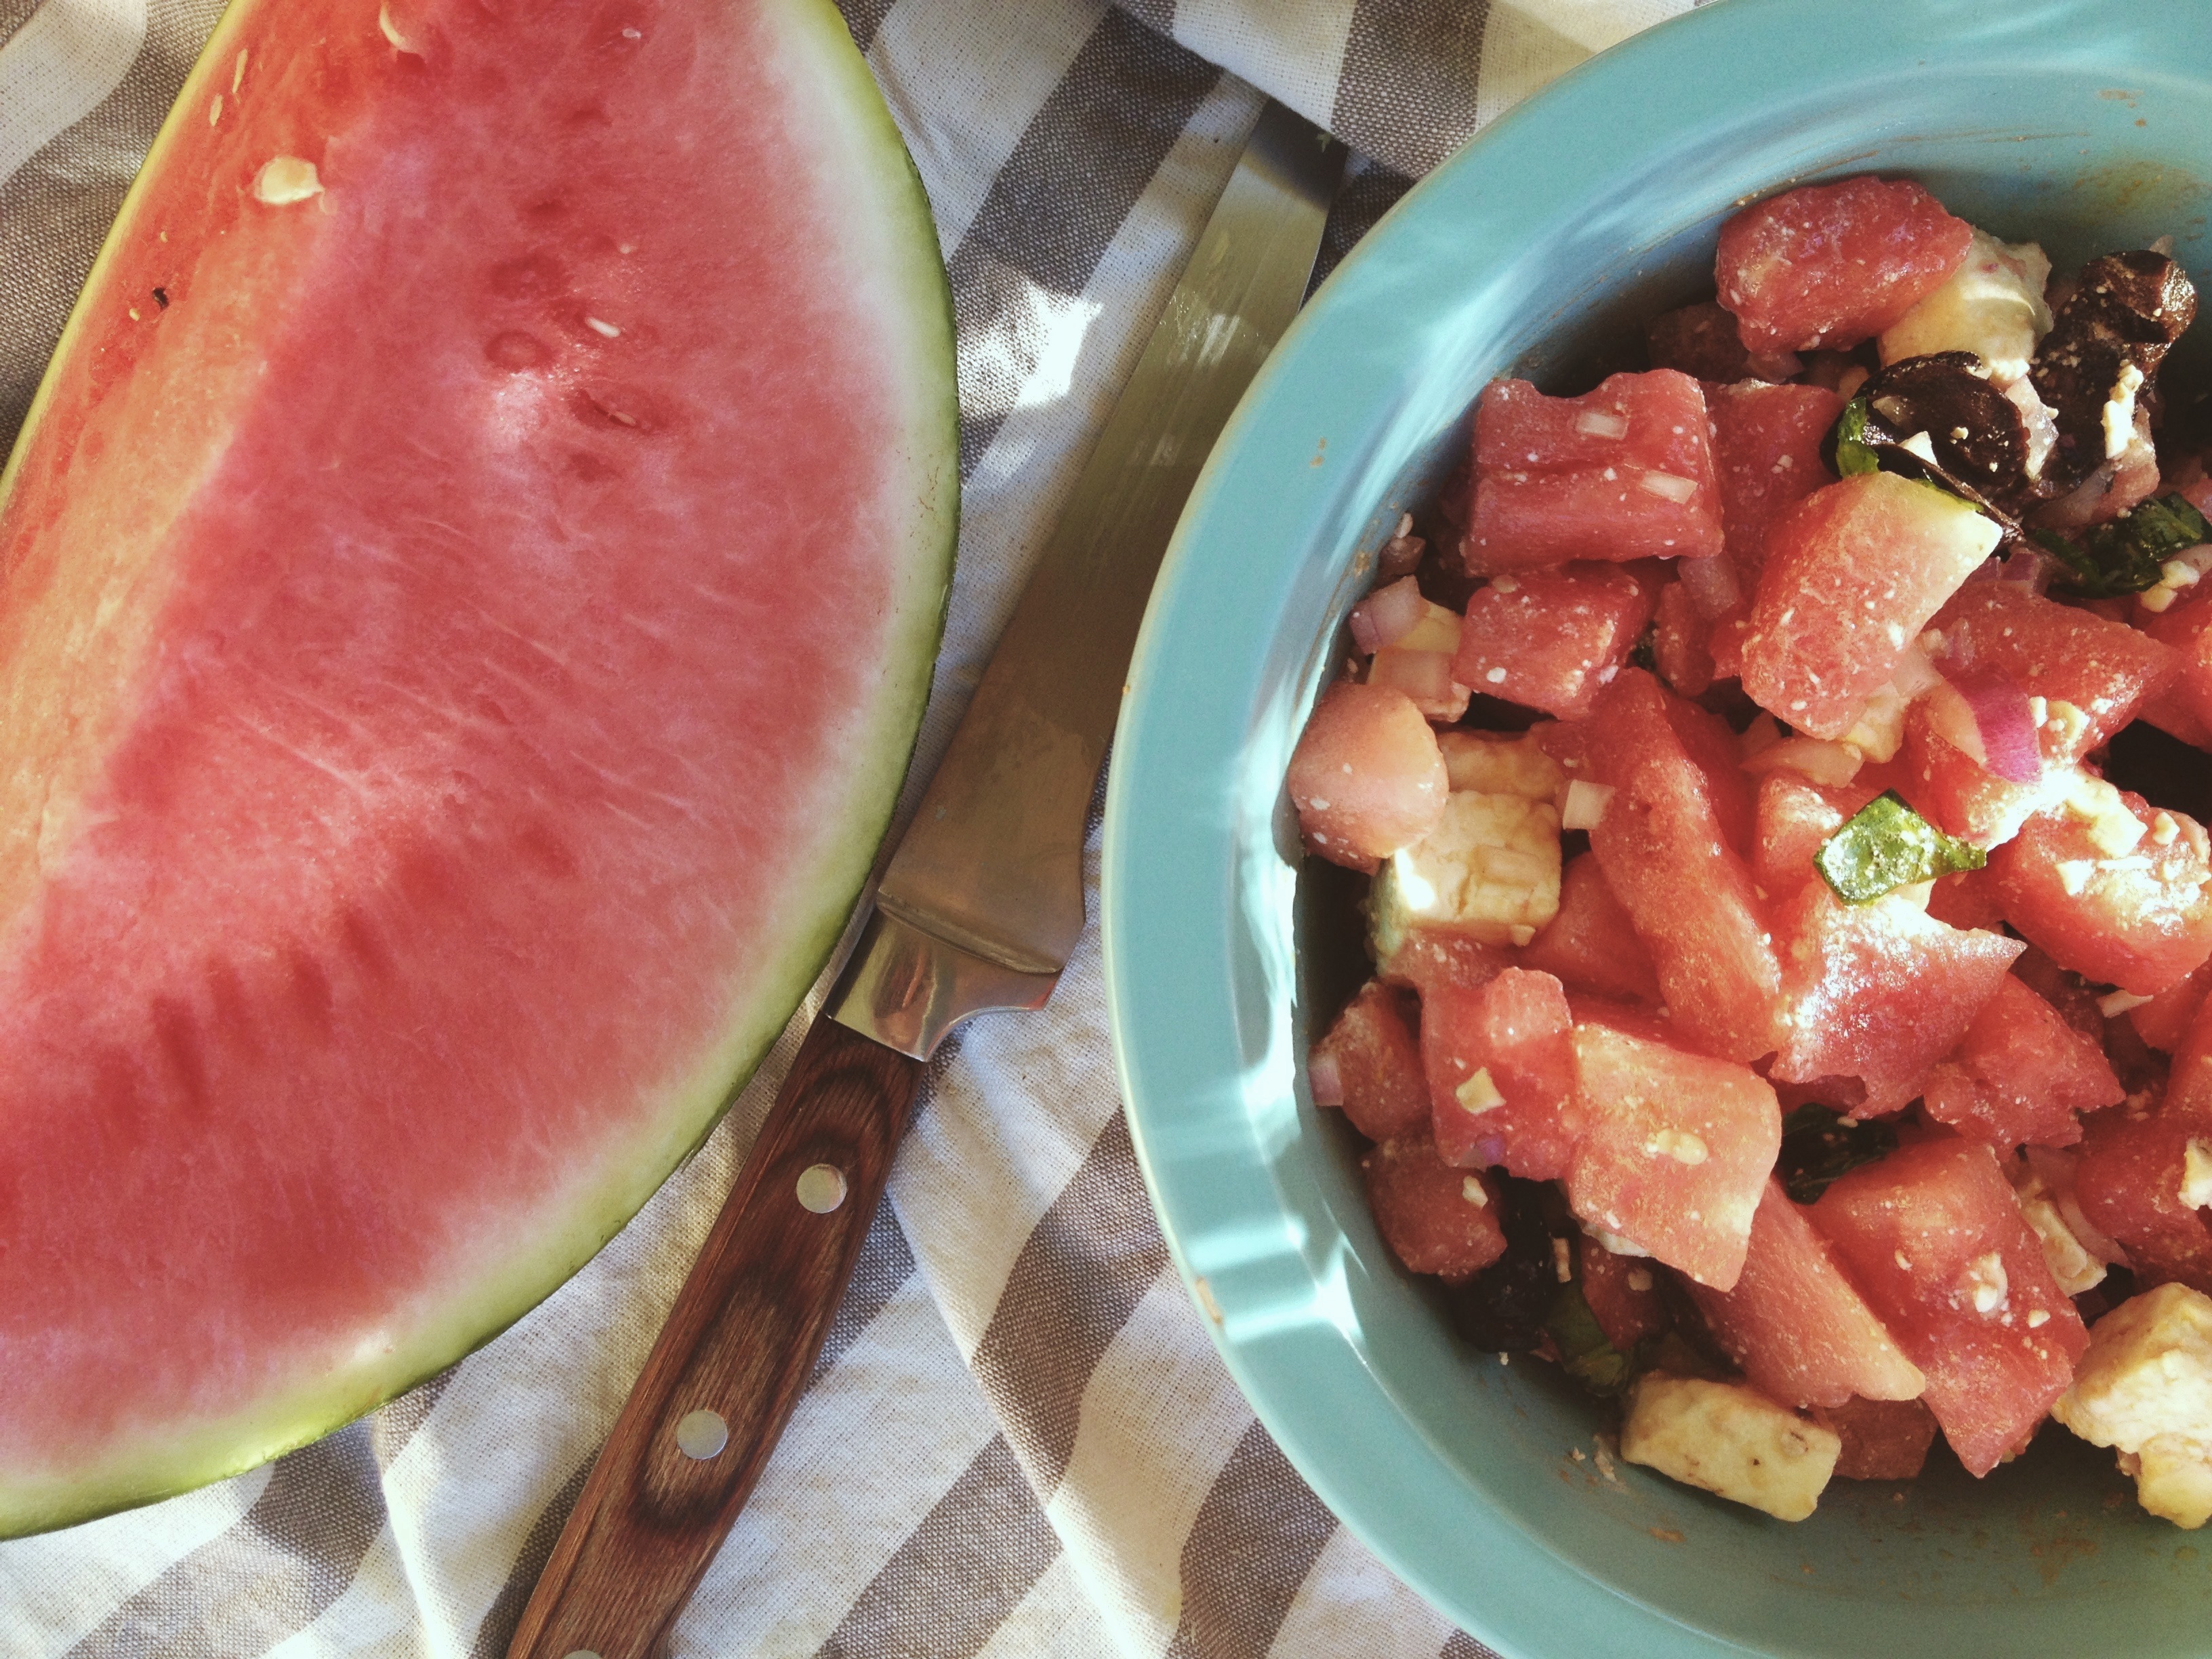
[[[0,476],[0,1535],[354,1418],[699,1144],[956,495],[830,4],[232,4]]]

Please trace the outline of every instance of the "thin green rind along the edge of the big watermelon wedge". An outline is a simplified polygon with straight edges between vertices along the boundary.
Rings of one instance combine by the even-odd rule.
[[[117,232],[131,226],[144,179],[157,170],[164,146],[181,119],[179,111],[197,106],[195,91],[210,73],[210,64],[217,60],[228,64],[237,24],[250,9],[234,4],[226,11],[204,46],[177,108],[122,204]],[[29,1480],[0,1471],[0,1537],[88,1522],[243,1473],[332,1433],[491,1343],[582,1270],[699,1150],[830,962],[898,805],[951,599],[960,495],[953,305],[920,173],[843,18],[830,0],[765,0],[765,9],[776,13],[781,35],[799,53],[821,100],[810,111],[821,128],[810,128],[810,137],[847,139],[852,150],[847,159],[854,166],[843,181],[876,195],[869,204],[874,212],[856,210],[849,223],[854,232],[872,232],[880,241],[878,274],[887,279],[891,303],[905,312],[896,338],[911,347],[905,365],[909,396],[905,429],[911,442],[907,460],[916,511],[900,560],[905,650],[883,664],[876,699],[858,710],[860,730],[838,818],[847,825],[845,834],[823,843],[816,849],[816,867],[794,872],[787,883],[790,891],[810,891],[814,898],[790,916],[787,945],[774,953],[776,967],[757,982],[750,1000],[732,1006],[732,1022],[706,1064],[668,1091],[668,1108],[659,1119],[661,1139],[599,1170],[602,1179],[586,1183],[571,1203],[546,1206],[549,1225],[531,1248],[473,1276],[438,1307],[396,1318],[407,1338],[374,1360],[323,1374],[305,1387],[272,1391],[252,1409],[228,1418],[184,1429],[139,1425],[139,1433],[119,1438],[119,1449],[111,1447],[111,1455],[93,1464],[42,1471]],[[119,234],[111,237],[93,263],[84,285],[86,296],[97,294],[102,268],[117,241]],[[62,361],[73,336],[86,327],[88,310],[80,299],[62,332],[55,361]],[[0,469],[0,498],[7,495],[53,385],[55,374],[49,369],[15,451]]]

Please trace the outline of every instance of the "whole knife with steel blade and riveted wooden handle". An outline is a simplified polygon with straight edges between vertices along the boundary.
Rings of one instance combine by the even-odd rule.
[[[509,1659],[655,1659],[821,1354],[922,1062],[1037,1009],[1084,929],[1084,825],[1190,484],[1290,325],[1345,150],[1261,113],[807,1031]]]

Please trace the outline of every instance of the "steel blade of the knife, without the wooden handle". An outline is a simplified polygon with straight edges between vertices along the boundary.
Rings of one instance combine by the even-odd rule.
[[[1068,960],[1084,825],[1152,577],[1305,299],[1343,155],[1281,104],[1261,113],[885,867],[883,914],[995,971],[1048,978]]]

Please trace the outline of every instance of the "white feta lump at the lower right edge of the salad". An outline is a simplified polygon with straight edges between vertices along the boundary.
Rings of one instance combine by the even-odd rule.
[[[2073,1387],[2051,1416],[2117,1447],[2137,1502],[2177,1526],[2212,1520],[2212,1298],[2159,1285],[2088,1334]]]

